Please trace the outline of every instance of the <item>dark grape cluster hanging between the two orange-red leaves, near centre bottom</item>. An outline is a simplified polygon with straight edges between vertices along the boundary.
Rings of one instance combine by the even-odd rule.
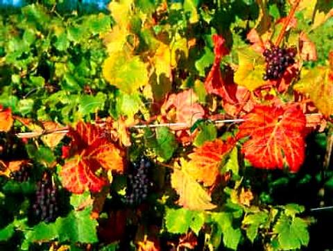
[[[128,175],[126,202],[129,205],[139,205],[148,196],[149,179],[148,169],[151,162],[142,158],[133,163],[133,173]]]

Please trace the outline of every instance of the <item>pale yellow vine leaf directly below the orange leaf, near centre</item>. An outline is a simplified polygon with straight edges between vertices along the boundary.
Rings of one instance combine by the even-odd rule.
[[[191,177],[187,171],[187,164],[184,159],[180,159],[180,166],[175,164],[171,175],[171,187],[176,189],[179,200],[178,205],[190,210],[211,210],[216,208],[212,204],[212,198],[206,193],[203,187]]]

